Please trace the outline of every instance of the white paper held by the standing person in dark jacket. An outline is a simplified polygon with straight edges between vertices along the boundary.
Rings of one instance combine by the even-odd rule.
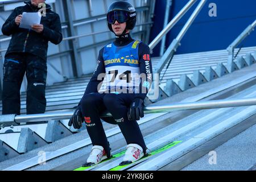
[[[31,29],[31,26],[33,24],[40,24],[41,21],[41,14],[38,13],[26,13],[23,12],[22,14],[22,20],[20,22],[19,27],[20,28],[28,28]]]

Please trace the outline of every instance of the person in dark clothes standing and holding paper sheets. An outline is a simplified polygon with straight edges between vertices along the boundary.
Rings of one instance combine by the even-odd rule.
[[[44,113],[46,110],[46,77],[48,42],[59,44],[63,39],[60,17],[46,4],[40,24],[31,29],[19,28],[22,13],[42,10],[40,3],[31,0],[16,7],[2,26],[3,35],[11,41],[5,54],[3,71],[2,114],[20,114],[20,86],[27,77],[27,114]]]

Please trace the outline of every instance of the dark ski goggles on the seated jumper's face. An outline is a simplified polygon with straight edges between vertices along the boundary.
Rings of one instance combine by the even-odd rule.
[[[129,13],[126,11],[111,11],[107,15],[108,23],[114,24],[115,20],[118,23],[125,23],[129,19]]]

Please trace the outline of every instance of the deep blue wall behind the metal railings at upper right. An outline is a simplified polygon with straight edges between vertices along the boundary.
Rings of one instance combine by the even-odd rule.
[[[169,22],[184,7],[188,0],[173,0]],[[166,47],[176,38],[179,31],[192,14],[200,1],[192,6],[184,17],[176,24],[167,35]],[[217,5],[217,17],[210,17],[208,7],[210,3]],[[156,1],[154,26],[151,29],[151,38],[163,29],[164,10],[166,0]],[[212,51],[225,49],[237,38],[239,34],[256,19],[255,0],[208,0],[200,14],[181,40],[181,46],[177,53],[191,53],[201,51]],[[256,46],[256,32],[251,35],[240,46]],[[159,56],[160,44],[154,49],[154,56]]]

